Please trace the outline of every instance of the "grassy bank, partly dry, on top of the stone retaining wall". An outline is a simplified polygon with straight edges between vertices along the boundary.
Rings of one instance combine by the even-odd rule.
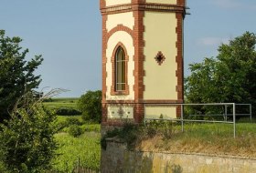
[[[178,122],[165,120],[150,121],[141,126],[128,124],[108,131],[101,137],[101,147],[107,148],[106,139],[112,138],[125,142],[129,149],[256,157],[254,123],[238,123],[236,138],[233,137],[233,126],[229,124],[185,123],[184,129],[182,132]]]

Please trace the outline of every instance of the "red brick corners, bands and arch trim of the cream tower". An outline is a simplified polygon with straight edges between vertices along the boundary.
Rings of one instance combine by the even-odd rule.
[[[165,4],[156,4],[156,3],[146,3],[145,0],[132,0],[131,4],[125,5],[112,5],[106,6],[105,0],[101,0],[101,15],[102,15],[102,125],[103,126],[122,126],[123,121],[120,119],[108,119],[108,107],[111,105],[118,106],[127,106],[130,105],[133,107],[133,122],[142,123],[144,119],[144,104],[175,104],[183,103],[183,18],[185,16],[185,0],[177,0],[176,5],[165,5]],[[176,13],[176,78],[177,78],[177,100],[144,100],[144,12],[153,11],[153,12],[165,12],[165,13]],[[120,14],[126,12],[133,12],[134,25],[133,29],[125,25],[116,25],[112,30],[108,31],[106,28],[106,23],[108,20],[108,15]],[[125,50],[125,46],[122,43],[117,44],[115,49],[118,46],[123,46],[125,50],[125,57],[134,62],[134,86],[128,86],[127,78],[125,79],[127,86],[125,86],[125,91],[123,93],[117,93],[114,91],[114,73],[112,73],[112,87],[111,95],[128,95],[129,89],[134,91],[134,100],[107,100],[106,92],[106,78],[108,76],[106,71],[107,57],[106,50],[107,44],[110,37],[119,31],[124,31],[133,37],[133,46],[134,46],[134,56],[128,57]],[[171,48],[171,47],[170,47]],[[112,53],[112,72],[114,72],[114,53]],[[157,63],[161,65],[165,56],[162,54],[158,55],[159,58],[156,58]],[[126,64],[126,70],[128,66]],[[126,71],[126,76],[127,76]],[[180,116],[181,109],[180,107],[176,108],[176,115]]]

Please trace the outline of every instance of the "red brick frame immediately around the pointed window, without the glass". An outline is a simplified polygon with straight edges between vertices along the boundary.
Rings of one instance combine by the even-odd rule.
[[[116,91],[115,89],[115,54],[118,49],[118,47],[121,46],[123,48],[124,54],[125,54],[125,90],[123,91]],[[129,95],[129,85],[128,85],[128,62],[129,62],[129,56],[127,54],[127,50],[125,46],[121,42],[119,42],[113,49],[112,52],[112,87],[111,87],[111,95]]]

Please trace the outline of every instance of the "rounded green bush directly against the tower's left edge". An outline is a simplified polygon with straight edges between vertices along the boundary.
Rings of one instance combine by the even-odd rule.
[[[82,118],[86,121],[101,122],[101,91],[88,91],[78,101]]]

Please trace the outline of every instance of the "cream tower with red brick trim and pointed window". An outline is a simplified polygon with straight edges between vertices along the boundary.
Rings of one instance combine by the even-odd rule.
[[[102,125],[179,117],[186,0],[101,0]]]

